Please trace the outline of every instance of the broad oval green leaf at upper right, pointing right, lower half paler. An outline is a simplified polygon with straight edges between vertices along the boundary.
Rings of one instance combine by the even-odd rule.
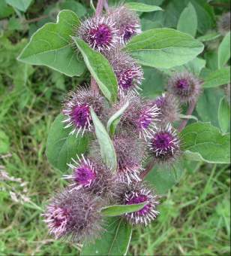
[[[124,48],[143,66],[170,69],[202,52],[201,42],[175,29],[151,29],[134,36]]]

